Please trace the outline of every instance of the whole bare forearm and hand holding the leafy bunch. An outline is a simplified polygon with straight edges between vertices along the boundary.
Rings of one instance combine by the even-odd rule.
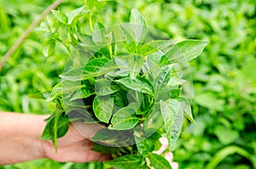
[[[47,117],[0,112],[0,166],[42,158],[61,162],[110,160],[108,155],[91,150],[93,143],[90,138],[102,127],[79,121],[71,123],[67,134],[57,140],[55,152],[51,141],[40,139]]]

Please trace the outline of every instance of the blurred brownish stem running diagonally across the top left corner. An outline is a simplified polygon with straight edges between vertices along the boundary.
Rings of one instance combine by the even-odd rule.
[[[3,56],[2,61],[0,62],[0,71],[3,68],[3,65],[6,63],[7,59],[15,52],[15,50],[20,46],[21,42],[23,42],[26,37],[33,31],[33,29],[38,25],[39,22],[41,22],[44,17],[49,14],[51,9],[56,8],[61,4],[62,0],[56,0],[54,3],[50,4],[48,8],[44,10],[42,14],[39,15],[39,17],[32,22],[31,25],[28,26],[26,31],[20,36],[20,38],[15,42],[15,44],[9,48],[9,51]]]

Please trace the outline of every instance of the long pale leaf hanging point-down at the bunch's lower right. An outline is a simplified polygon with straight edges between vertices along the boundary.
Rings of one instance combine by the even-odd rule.
[[[173,150],[183,127],[183,109],[180,102],[168,99],[160,100],[160,110],[166,127],[169,147]]]

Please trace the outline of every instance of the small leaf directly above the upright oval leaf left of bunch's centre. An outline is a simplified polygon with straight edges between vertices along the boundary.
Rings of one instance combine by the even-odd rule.
[[[97,79],[95,82],[96,95],[104,96],[119,91],[119,85],[112,84],[108,79]]]

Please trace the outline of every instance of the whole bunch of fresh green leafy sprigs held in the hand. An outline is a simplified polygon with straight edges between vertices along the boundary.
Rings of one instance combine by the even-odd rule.
[[[75,48],[67,61],[61,82],[56,84],[48,101],[55,102],[55,113],[48,122],[42,139],[63,137],[73,121],[101,124],[91,141],[94,150],[109,153],[107,167],[172,168],[160,149],[160,138],[166,137],[168,150],[173,150],[182,130],[184,117],[194,122],[189,99],[183,94],[183,69],[195,59],[207,42],[184,40],[174,42],[155,38],[136,8],[131,10],[129,24],[105,27],[90,22],[86,36],[76,34],[84,7],[68,16],[54,11],[56,21],[67,28],[68,50]],[[90,13],[90,10],[84,13]],[[90,19],[91,20],[91,19]],[[79,30],[80,31],[80,30]],[[53,54],[59,38],[51,36],[44,53]]]

